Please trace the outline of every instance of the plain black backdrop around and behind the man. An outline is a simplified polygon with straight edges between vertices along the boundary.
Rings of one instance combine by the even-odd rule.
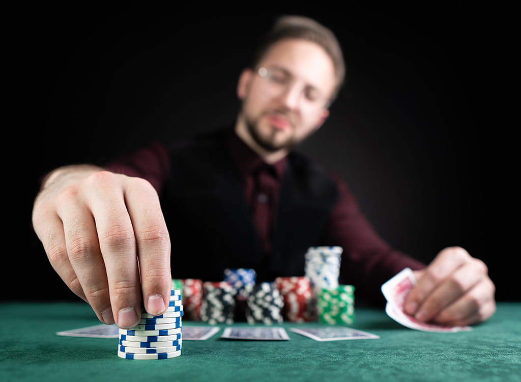
[[[301,14],[337,34],[347,82],[299,150],[344,177],[390,244],[426,262],[461,245],[498,300],[518,300],[513,11],[360,4],[4,8],[2,298],[73,297],[32,231],[40,176],[232,123],[262,31]]]

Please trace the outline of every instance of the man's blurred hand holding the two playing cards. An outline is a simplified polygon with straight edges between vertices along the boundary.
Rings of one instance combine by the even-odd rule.
[[[487,266],[461,247],[443,249],[414,274],[417,283],[404,307],[418,321],[464,326],[485,321],[495,312],[495,287]]]

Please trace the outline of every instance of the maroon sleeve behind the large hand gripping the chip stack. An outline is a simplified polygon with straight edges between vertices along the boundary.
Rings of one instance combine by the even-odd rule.
[[[145,148],[106,164],[104,168],[119,174],[144,178],[161,195],[170,174],[170,160],[167,148],[159,142],[153,142]]]

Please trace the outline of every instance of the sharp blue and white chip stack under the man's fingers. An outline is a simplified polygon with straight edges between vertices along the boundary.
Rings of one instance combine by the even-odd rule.
[[[127,360],[164,360],[181,355],[181,291],[172,290],[166,312],[152,316],[143,311],[139,324],[119,329],[118,356]]]

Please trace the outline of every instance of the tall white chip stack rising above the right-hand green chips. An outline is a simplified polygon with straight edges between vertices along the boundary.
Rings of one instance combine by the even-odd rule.
[[[311,280],[313,290],[313,320],[318,319],[316,301],[322,289],[338,287],[342,247],[309,247],[305,255],[305,276]]]

